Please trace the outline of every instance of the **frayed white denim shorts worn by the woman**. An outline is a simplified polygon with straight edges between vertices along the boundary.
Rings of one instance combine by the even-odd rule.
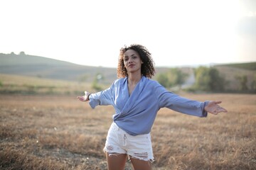
[[[151,135],[132,136],[112,123],[107,133],[104,152],[111,155],[127,154],[130,158],[153,162]]]

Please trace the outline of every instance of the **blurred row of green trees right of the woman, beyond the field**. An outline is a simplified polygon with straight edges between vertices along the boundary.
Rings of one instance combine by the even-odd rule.
[[[250,84],[248,84],[246,75],[236,75],[235,79],[239,85],[238,89],[235,90],[227,88],[229,82],[215,67],[198,67],[193,69],[193,74],[195,82],[192,86],[186,88],[186,91],[256,93],[256,74]],[[171,68],[168,72],[158,74],[156,80],[166,89],[171,89],[175,86],[181,89],[187,78],[188,74],[182,72],[181,69]]]

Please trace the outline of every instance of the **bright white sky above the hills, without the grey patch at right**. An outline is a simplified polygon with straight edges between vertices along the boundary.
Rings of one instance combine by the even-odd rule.
[[[254,16],[238,0],[0,1],[0,52],[116,67],[119,49],[139,43],[156,66],[255,62],[238,35]],[[256,6],[255,6],[256,7]]]

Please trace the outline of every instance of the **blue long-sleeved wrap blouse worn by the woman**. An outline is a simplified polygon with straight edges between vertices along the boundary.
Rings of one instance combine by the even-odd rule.
[[[167,91],[157,81],[142,77],[129,95],[127,77],[117,79],[105,91],[100,91],[89,96],[90,106],[112,105],[115,113],[112,116],[114,123],[129,135],[143,135],[151,131],[160,108],[206,117],[204,107],[208,101],[199,102],[183,98]]]

